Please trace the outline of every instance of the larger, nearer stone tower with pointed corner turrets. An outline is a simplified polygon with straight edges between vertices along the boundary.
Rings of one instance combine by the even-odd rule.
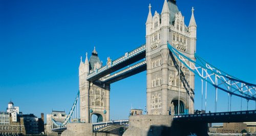
[[[156,11],[154,16],[149,6],[146,20],[148,115],[194,112],[195,75],[170,54],[167,42],[195,60],[196,30],[194,9],[186,27],[175,0],[165,0],[161,14]]]

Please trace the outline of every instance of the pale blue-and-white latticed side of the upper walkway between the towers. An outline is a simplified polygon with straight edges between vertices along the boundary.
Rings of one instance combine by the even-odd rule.
[[[125,53],[124,56],[122,56],[122,57],[120,57],[120,58],[114,60],[110,66],[105,65],[105,66],[101,67],[100,69],[95,70],[95,71],[89,73],[89,75],[88,75],[88,77],[87,77],[87,80],[90,79],[90,78],[92,78],[92,77],[94,77],[94,76],[96,76],[96,75],[99,75],[99,74],[102,73],[103,71],[105,71],[105,70],[107,70],[107,69],[110,69],[111,67],[113,67],[113,66],[115,66],[115,65],[117,65],[117,64],[119,64],[119,63],[121,63],[121,62],[123,62],[123,61],[125,61],[125,60],[127,60],[127,59],[130,59],[130,58],[132,58],[132,57],[134,57],[134,56],[136,56],[136,55],[138,55],[138,54],[140,54],[140,53],[142,53],[142,52],[144,52],[144,51],[146,51],[146,45],[145,45],[145,44],[144,44],[143,46],[141,46],[141,47],[139,47],[139,48],[133,50],[133,51],[130,52],[130,53]]]

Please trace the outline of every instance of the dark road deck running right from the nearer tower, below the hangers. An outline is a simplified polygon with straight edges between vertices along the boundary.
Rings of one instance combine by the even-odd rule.
[[[256,122],[256,110],[215,112],[207,114],[174,116],[175,122],[203,122],[203,123],[229,123],[229,122]]]

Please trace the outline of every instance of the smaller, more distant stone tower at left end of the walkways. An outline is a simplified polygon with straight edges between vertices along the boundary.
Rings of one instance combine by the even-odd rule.
[[[95,48],[91,58],[79,65],[79,91],[80,91],[80,121],[92,122],[92,115],[96,115],[97,122],[110,120],[110,84],[103,84],[97,80],[89,82],[87,76],[90,72],[101,67],[102,63]]]

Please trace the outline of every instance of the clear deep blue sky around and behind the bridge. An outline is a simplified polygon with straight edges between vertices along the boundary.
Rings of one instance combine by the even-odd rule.
[[[80,56],[94,46],[103,63],[145,43],[148,4],[157,1],[0,1],[0,110],[10,99],[24,114],[69,111],[78,91]],[[185,24],[195,8],[197,53],[219,69],[256,83],[256,1],[177,0]],[[201,109],[200,81],[195,108]],[[214,111],[214,89],[207,110]],[[146,73],[111,84],[111,119],[146,105]],[[220,93],[218,111],[227,110]],[[211,104],[210,104],[211,102]],[[240,99],[232,99],[232,110]],[[254,109],[254,102],[249,108]],[[243,109],[245,109],[245,100]]]

